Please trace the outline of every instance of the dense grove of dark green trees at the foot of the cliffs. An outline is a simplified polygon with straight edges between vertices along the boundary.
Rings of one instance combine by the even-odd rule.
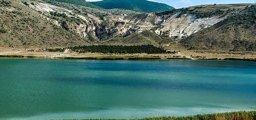
[[[115,53],[115,54],[127,54],[127,53],[172,53],[167,52],[161,47],[156,47],[153,45],[134,45],[134,46],[122,46],[122,45],[90,45],[90,46],[75,46],[68,47],[72,51],[78,53]]]

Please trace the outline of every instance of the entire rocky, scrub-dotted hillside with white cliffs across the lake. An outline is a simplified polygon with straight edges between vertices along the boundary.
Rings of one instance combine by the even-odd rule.
[[[4,0],[0,2],[0,47],[153,44],[171,50],[256,51],[251,5],[144,13],[57,0]]]

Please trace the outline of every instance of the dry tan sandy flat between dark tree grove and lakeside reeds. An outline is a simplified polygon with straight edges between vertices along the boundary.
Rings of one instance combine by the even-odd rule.
[[[34,49],[36,50],[36,49]],[[200,58],[246,58],[256,59],[256,52],[236,52],[236,53],[223,53],[223,52],[205,52],[205,51],[181,51],[177,54],[101,54],[101,53],[75,53],[65,50],[65,52],[28,52],[25,49],[3,48],[0,47],[0,55],[23,55],[45,58],[60,58],[60,57],[96,57],[96,58],[129,58],[129,57],[187,57],[192,59]]]

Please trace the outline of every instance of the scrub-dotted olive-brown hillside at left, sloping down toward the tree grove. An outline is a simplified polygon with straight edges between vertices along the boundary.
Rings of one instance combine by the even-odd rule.
[[[38,5],[17,0],[0,1],[0,46],[45,48],[88,44],[77,33],[54,24],[58,21],[32,9]]]

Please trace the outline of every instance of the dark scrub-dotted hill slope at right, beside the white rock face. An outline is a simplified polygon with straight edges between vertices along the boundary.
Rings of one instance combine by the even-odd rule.
[[[183,39],[181,44],[195,50],[256,51],[256,6],[233,12],[225,20]]]

